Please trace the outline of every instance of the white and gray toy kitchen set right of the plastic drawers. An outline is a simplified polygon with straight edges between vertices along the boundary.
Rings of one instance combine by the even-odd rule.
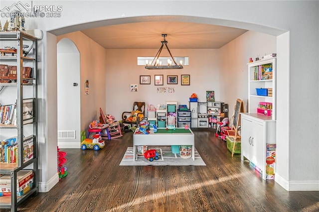
[[[228,117],[228,104],[223,102],[189,102],[192,128],[214,128]]]

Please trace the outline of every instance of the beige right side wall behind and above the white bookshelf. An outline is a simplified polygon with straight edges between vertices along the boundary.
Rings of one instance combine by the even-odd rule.
[[[262,42],[261,42],[262,41]],[[221,92],[229,104],[229,116],[234,112],[236,99],[244,100],[245,111],[248,101],[249,58],[276,53],[276,36],[248,31],[220,48],[222,79]]]

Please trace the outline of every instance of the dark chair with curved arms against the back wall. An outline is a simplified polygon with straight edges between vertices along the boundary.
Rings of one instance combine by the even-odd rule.
[[[134,102],[132,111],[122,113],[122,123],[138,126],[142,118],[145,116],[145,102]]]

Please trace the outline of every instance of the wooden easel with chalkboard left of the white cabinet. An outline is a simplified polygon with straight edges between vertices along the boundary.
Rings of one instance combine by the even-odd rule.
[[[232,150],[232,153],[231,153],[232,157],[234,155],[236,139],[237,138],[241,138],[241,136],[238,134],[238,132],[240,131],[240,130],[238,130],[238,126],[240,125],[240,117],[239,117],[239,115],[240,115],[241,112],[245,112],[244,101],[240,100],[240,99],[237,99],[236,100],[236,104],[235,104],[235,108],[234,108],[233,123],[232,123],[231,129],[227,130],[228,137],[234,138],[234,146],[233,146],[233,150]]]

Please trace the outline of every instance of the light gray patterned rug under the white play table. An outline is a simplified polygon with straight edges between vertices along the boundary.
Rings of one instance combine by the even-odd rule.
[[[133,161],[133,147],[128,147],[122,158],[120,166],[206,166],[196,148],[195,160],[192,158],[181,158],[179,154],[172,153],[169,146],[149,146],[148,149],[156,149],[160,158],[151,162],[144,158],[144,156],[139,155],[138,160]]]

